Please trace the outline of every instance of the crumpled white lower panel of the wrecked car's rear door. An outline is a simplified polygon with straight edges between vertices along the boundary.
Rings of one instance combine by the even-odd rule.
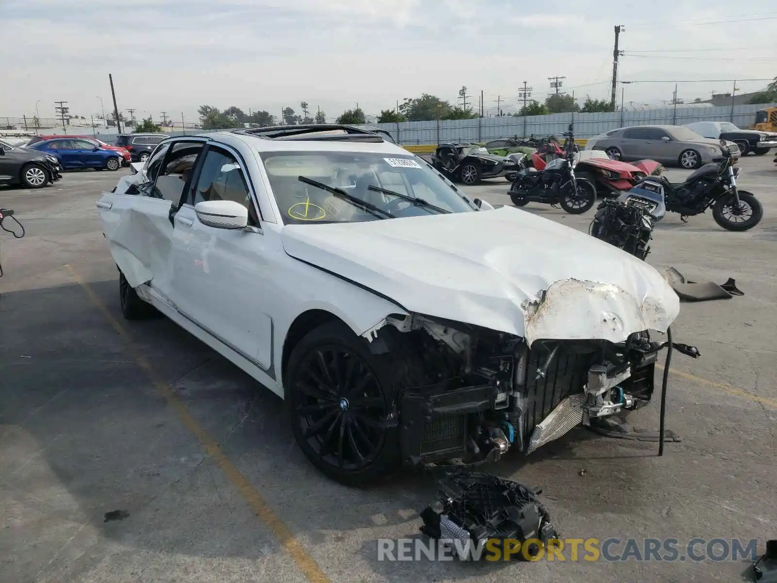
[[[110,253],[127,282],[137,287],[152,281],[165,296],[169,291],[171,207],[170,201],[132,194],[103,193],[97,201]]]

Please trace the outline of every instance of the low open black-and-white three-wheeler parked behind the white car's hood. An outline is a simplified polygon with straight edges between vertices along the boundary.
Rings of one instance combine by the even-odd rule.
[[[441,144],[432,154],[432,166],[445,176],[471,186],[484,178],[499,178],[514,172],[510,157],[493,155],[477,144]]]

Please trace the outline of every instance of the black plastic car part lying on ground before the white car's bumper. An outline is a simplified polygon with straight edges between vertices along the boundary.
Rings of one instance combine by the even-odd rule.
[[[529,557],[540,553],[537,541],[547,547],[549,541],[559,538],[550,515],[537,494],[512,480],[486,473],[448,473],[440,480],[437,501],[421,511],[421,532],[432,539],[450,545],[461,541],[461,546],[450,545],[463,560],[471,557],[465,549],[471,544],[497,539],[500,545],[534,541],[528,547]],[[514,557],[525,560],[523,552]]]

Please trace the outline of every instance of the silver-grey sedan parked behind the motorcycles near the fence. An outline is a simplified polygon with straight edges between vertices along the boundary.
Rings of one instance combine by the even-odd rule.
[[[726,142],[734,158],[739,148]],[[699,168],[723,160],[720,141],[704,138],[695,131],[677,125],[641,125],[621,127],[587,141],[587,150],[602,150],[615,160],[653,159],[682,168]]]

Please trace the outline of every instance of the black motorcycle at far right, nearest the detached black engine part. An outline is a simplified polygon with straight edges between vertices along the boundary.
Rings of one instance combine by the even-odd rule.
[[[665,176],[646,176],[635,184],[657,183],[663,187],[667,211],[677,212],[683,222],[688,217],[713,209],[715,222],[729,231],[747,231],[761,222],[764,208],[746,190],[737,189],[740,168],[733,166],[733,158],[726,142],[720,141],[723,162],[706,164],[685,180],[671,183]]]

